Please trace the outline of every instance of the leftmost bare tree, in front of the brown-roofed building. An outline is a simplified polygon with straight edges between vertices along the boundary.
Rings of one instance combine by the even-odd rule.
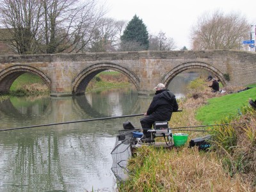
[[[15,47],[19,54],[33,54],[37,51],[38,29],[42,16],[40,1],[0,1],[0,23],[9,30],[12,40],[7,44]]]

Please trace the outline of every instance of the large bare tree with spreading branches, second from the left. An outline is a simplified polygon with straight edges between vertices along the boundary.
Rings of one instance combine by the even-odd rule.
[[[86,51],[106,13],[97,0],[43,0],[47,53]]]

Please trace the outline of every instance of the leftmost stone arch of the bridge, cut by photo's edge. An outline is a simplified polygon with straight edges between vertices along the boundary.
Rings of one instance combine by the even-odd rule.
[[[29,72],[39,76],[51,90],[51,79],[47,77],[44,72],[35,67],[28,65],[13,65],[12,67],[5,68],[0,72],[0,90],[2,93],[8,93],[13,81],[20,75]]]

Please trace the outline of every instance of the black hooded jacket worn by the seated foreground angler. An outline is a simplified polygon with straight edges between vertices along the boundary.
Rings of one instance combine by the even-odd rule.
[[[148,108],[147,115],[154,115],[159,120],[170,120],[173,111],[179,106],[175,95],[170,90],[156,91],[155,96]]]

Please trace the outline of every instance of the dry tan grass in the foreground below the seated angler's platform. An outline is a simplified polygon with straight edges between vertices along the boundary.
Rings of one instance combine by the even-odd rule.
[[[251,191],[239,175],[228,176],[216,154],[195,148],[141,147],[129,161],[131,177],[119,191]]]

